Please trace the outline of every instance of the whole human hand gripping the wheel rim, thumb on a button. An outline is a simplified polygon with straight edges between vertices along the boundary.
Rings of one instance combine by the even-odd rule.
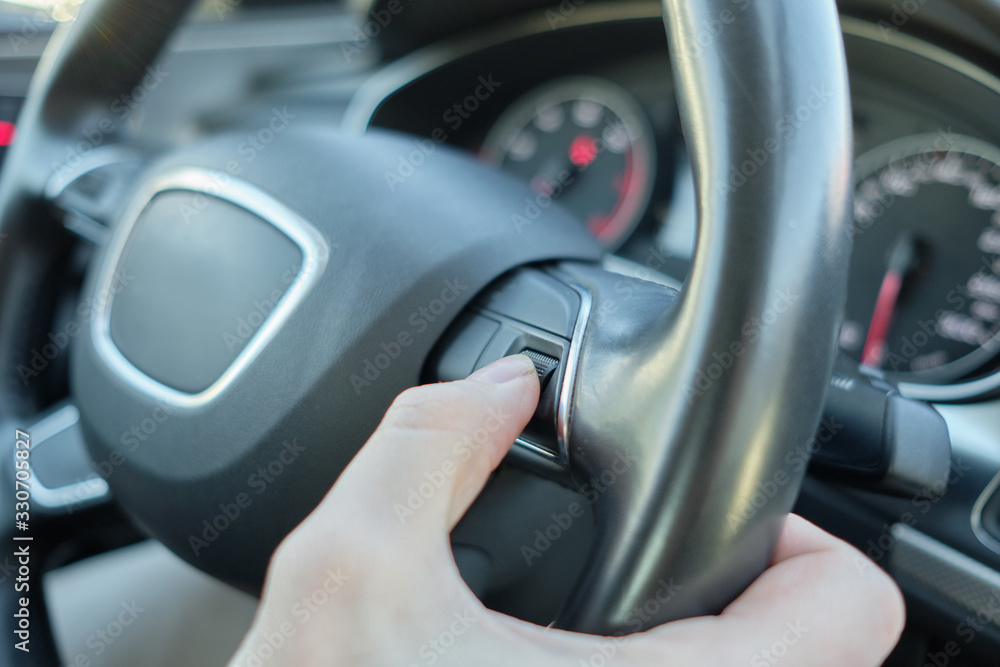
[[[604,638],[486,609],[458,573],[449,534],[537,403],[534,367],[520,355],[401,394],[275,552],[232,664],[863,667],[895,645],[904,612],[892,580],[795,515],[770,568],[719,616]],[[465,435],[481,444],[456,445]],[[401,521],[397,506],[437,472],[443,485]]]

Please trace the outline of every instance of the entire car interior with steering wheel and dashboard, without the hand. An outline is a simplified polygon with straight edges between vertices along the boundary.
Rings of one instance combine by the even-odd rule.
[[[393,398],[516,353],[489,608],[716,614],[794,511],[886,665],[1000,664],[1000,0],[10,0],[0,160],[0,664],[225,664]]]

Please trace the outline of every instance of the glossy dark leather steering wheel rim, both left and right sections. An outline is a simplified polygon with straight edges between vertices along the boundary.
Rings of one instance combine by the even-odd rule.
[[[28,221],[43,201],[45,165],[59,163],[85,122],[65,110],[134,86],[189,4],[163,8],[149,0],[126,8],[91,0],[39,68],[0,183],[0,225],[12,236],[0,244],[6,267],[0,354],[8,368],[31,347],[12,323],[32,311],[30,295],[45,286],[23,257],[14,260],[13,247],[47,253],[50,261],[39,266],[51,266],[58,250],[40,248]],[[783,459],[808,441],[819,421],[850,245],[849,97],[836,8],[833,2],[758,3],[725,23],[711,45],[696,47],[701,26],[726,15],[730,4],[663,3],[698,192],[699,242],[680,301],[645,287],[623,300],[615,296],[617,277],[593,266],[561,268],[594,297],[566,406],[568,465],[586,479],[625,451],[640,471],[595,508],[597,545],[557,621],[563,628],[635,629],[627,623],[630,611],[655,598],[665,579],[681,592],[652,622],[719,611],[766,566],[804,472]],[[155,13],[157,20],[141,22],[145,31],[125,31],[121,41],[95,38],[100,27],[120,25],[133,13]],[[102,78],[76,76],[88,67]],[[827,100],[812,110],[809,123],[782,136],[781,121],[816,86],[824,87]],[[754,175],[738,187],[725,185],[736,173],[731,169],[738,172],[760,150],[766,158],[755,162]],[[796,187],[802,184],[808,187]],[[575,254],[582,259],[587,252]],[[747,323],[781,290],[800,296],[786,299],[782,317],[757,327],[759,339],[734,354],[732,345],[748,337]],[[658,335],[663,332],[668,335]],[[701,376],[724,354],[732,364],[701,388]],[[631,389],[621,391],[628,378]],[[23,398],[10,389],[8,383],[8,405],[24,405],[10,400]],[[607,418],[636,415],[638,406],[645,409],[641,418]],[[753,508],[760,485],[781,472],[787,481],[763,507],[727,520],[734,508]]]

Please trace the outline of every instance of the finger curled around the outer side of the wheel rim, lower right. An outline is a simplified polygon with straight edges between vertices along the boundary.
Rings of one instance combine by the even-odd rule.
[[[773,565],[720,617],[658,629],[661,638],[726,637],[727,660],[789,665],[880,665],[905,611],[892,579],[861,552],[789,515]],[[720,634],[721,633],[721,634]]]

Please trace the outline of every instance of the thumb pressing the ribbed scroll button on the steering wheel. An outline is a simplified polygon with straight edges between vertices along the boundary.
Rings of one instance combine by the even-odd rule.
[[[370,528],[405,535],[410,544],[440,539],[524,430],[538,394],[534,364],[520,354],[465,380],[408,389],[321,509],[360,512]]]

